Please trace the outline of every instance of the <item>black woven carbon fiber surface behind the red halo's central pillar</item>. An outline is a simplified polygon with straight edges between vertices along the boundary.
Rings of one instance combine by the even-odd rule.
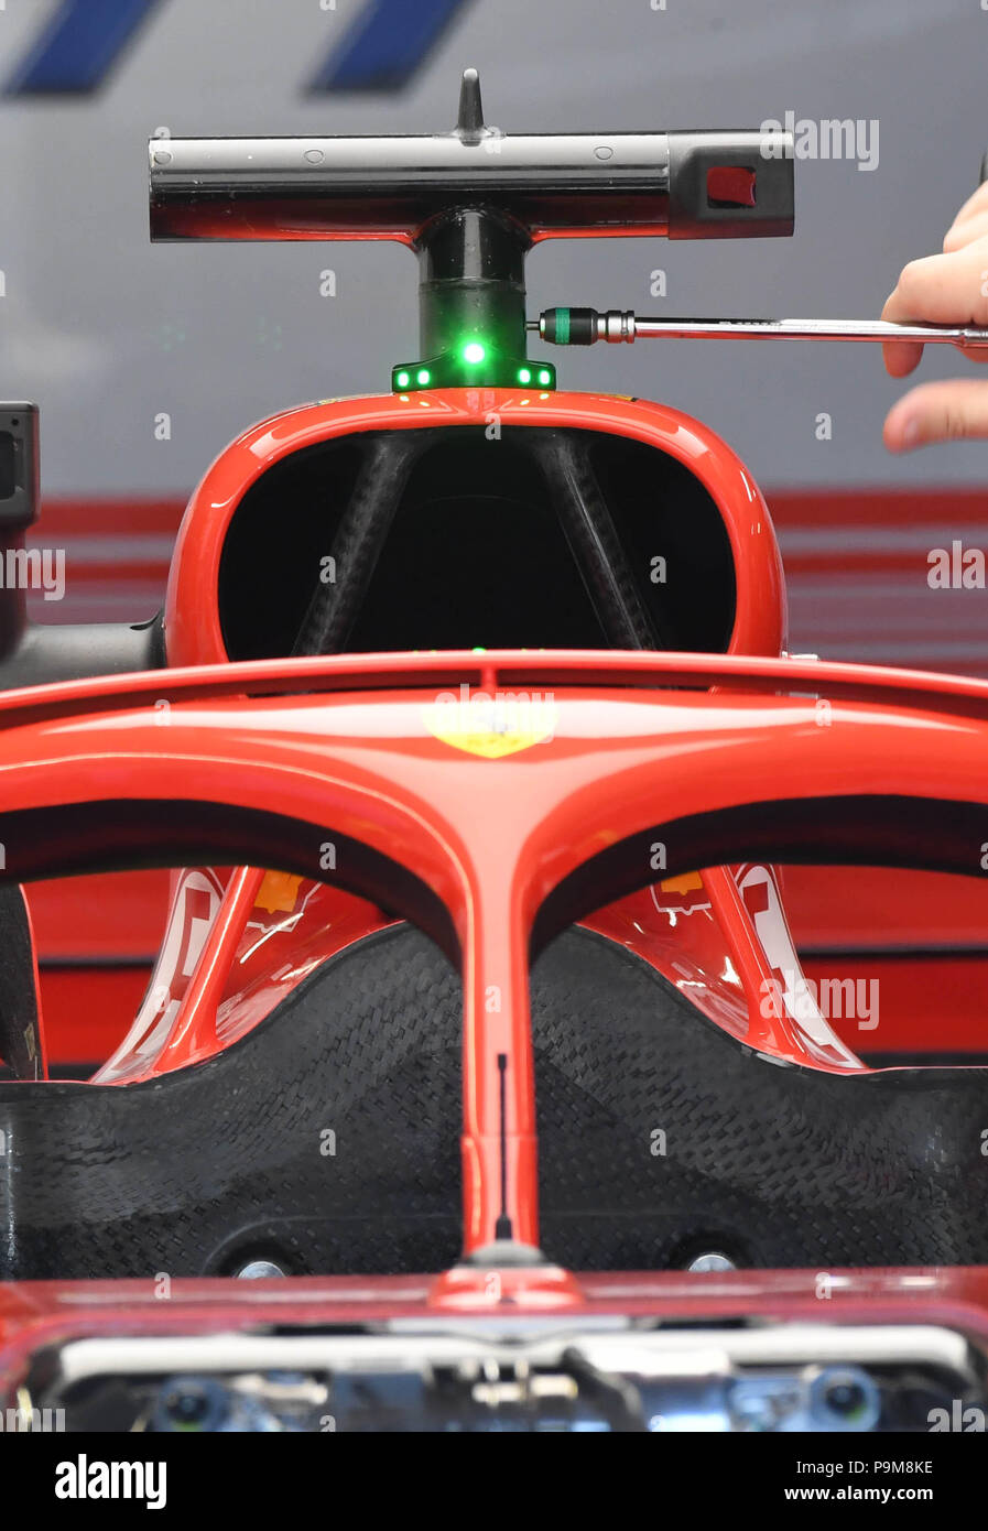
[[[581,929],[536,963],[533,1032],[553,1258],[988,1262],[988,1070],[780,1067]],[[392,928],[210,1063],[132,1087],[0,1085],[0,1133],[6,1280],[259,1255],[438,1269],[460,1251],[460,981]]]

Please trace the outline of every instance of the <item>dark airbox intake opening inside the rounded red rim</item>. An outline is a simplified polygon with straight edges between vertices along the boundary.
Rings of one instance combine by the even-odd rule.
[[[530,446],[541,427],[430,430],[348,652],[607,648]],[[725,652],[735,611],[731,544],[705,485],[656,447],[579,430],[642,603],[663,648]],[[357,482],[369,435],[305,447],[236,508],[219,570],[231,660],[288,655]],[[337,566],[335,577],[346,579]]]

